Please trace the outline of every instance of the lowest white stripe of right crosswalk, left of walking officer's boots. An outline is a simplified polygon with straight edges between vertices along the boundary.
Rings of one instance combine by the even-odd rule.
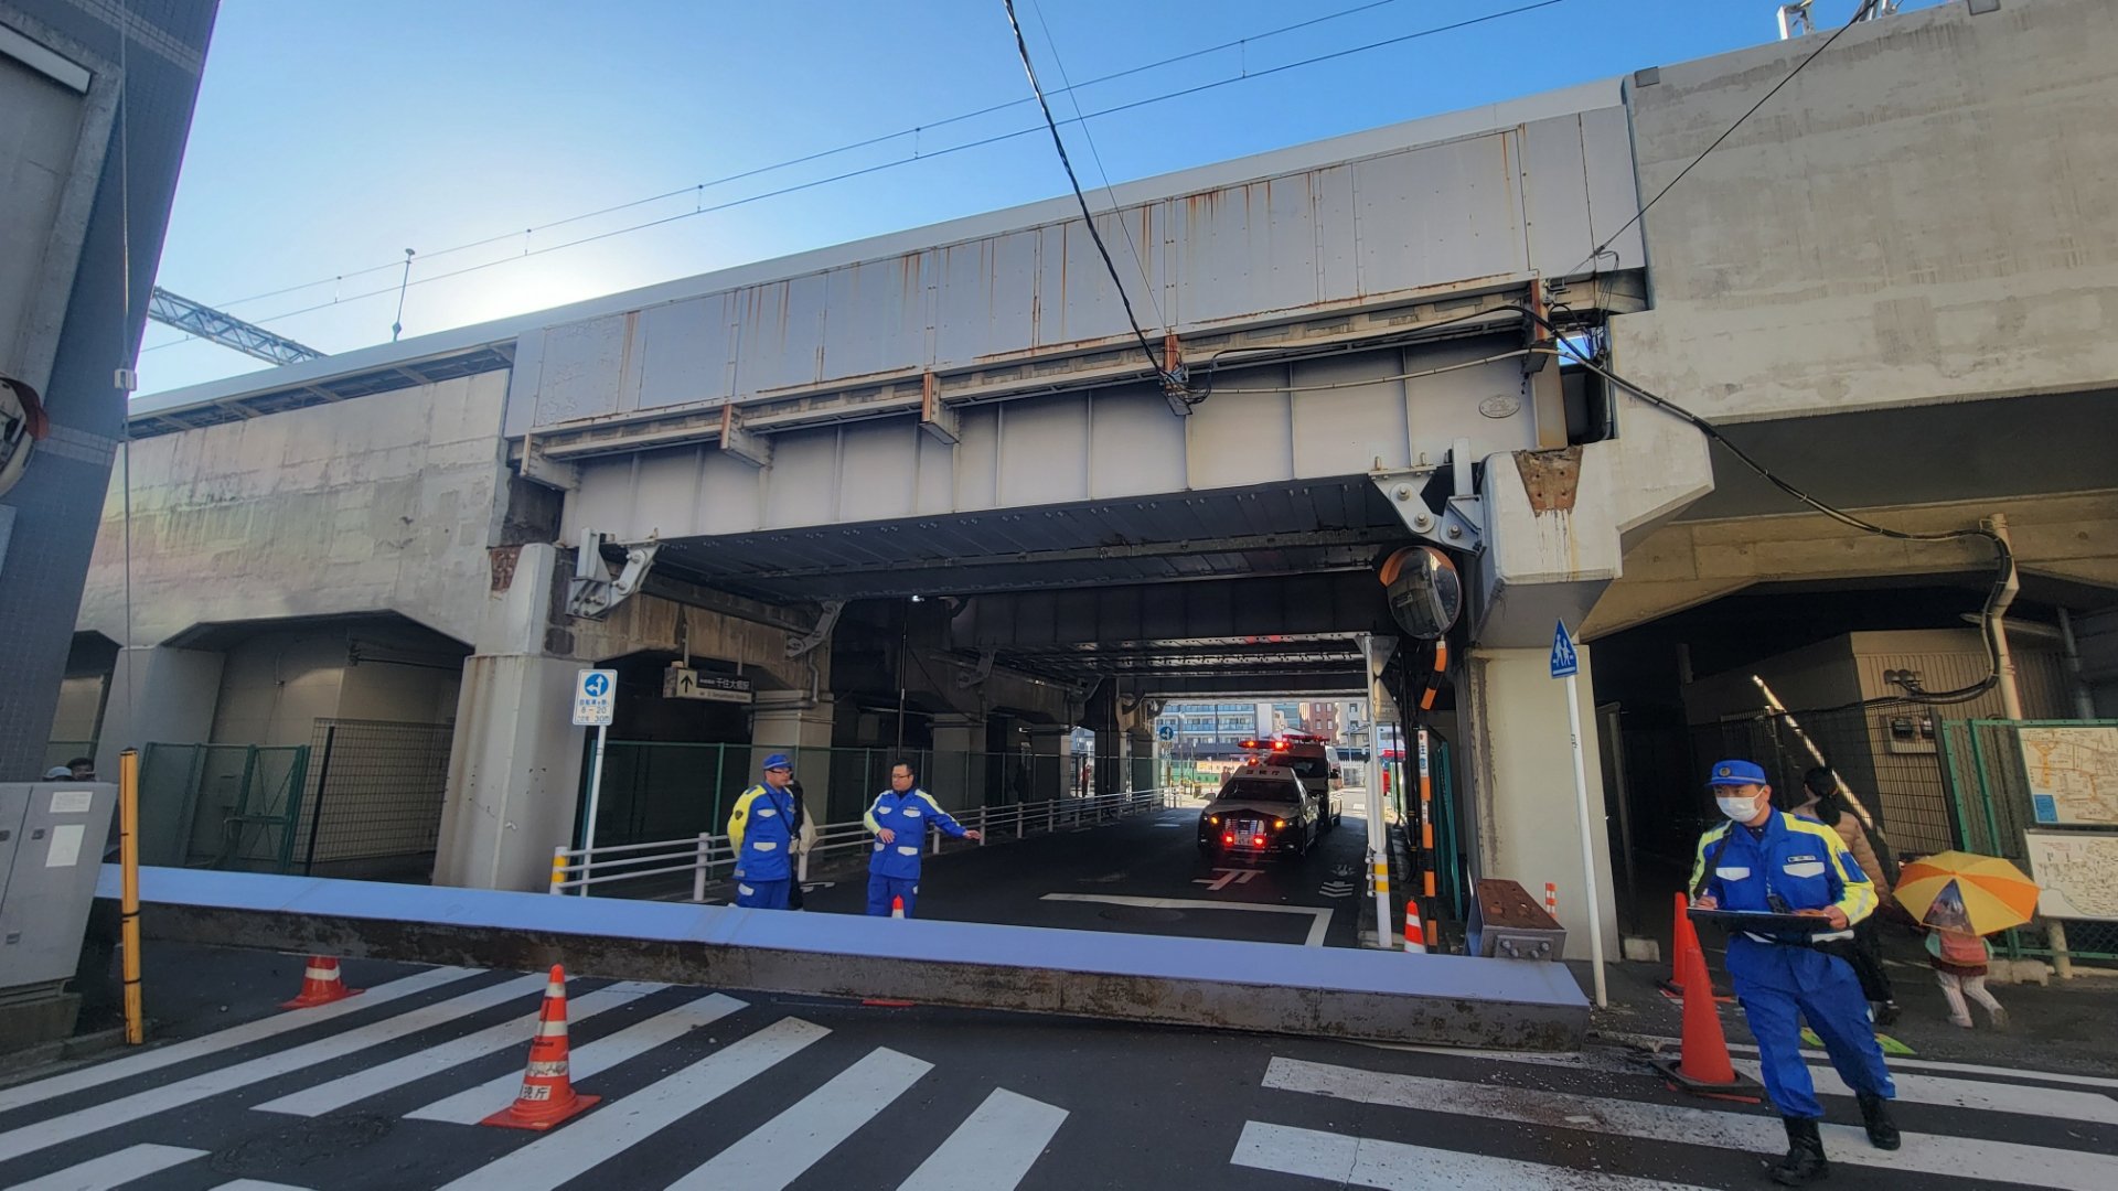
[[[1375,1138],[1347,1138],[1317,1130],[1243,1121],[1235,1166],[1328,1178],[1332,1185],[1425,1191],[1476,1187],[1478,1191],[1699,1191],[1686,1183],[1599,1174],[1569,1166],[1540,1166],[1485,1153],[1408,1146]]]

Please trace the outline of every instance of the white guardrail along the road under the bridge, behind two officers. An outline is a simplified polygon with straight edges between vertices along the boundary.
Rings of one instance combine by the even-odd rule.
[[[1112,822],[1125,818],[1127,814],[1180,805],[1197,805],[1197,799],[1188,788],[1156,786],[1152,790],[1131,790],[1123,795],[1053,799],[1046,803],[1017,803],[1006,807],[970,807],[949,814],[953,814],[964,826],[976,831],[983,839],[974,846],[983,848],[985,843],[998,841],[995,835],[1006,839],[1012,833],[1015,839],[1023,839],[1040,831],[1072,831],[1084,822]],[[930,837],[932,852],[940,854],[940,841],[945,835],[934,831]],[[868,824],[860,820],[820,824],[815,829],[815,841],[801,854],[801,879],[809,879],[811,858],[837,852],[868,852]],[[966,843],[966,848],[974,846]],[[690,873],[690,901],[703,903],[705,888],[716,877],[726,877],[731,869],[735,869],[735,852],[729,848],[726,835],[699,833],[684,839],[614,843],[604,848],[561,846],[551,850],[551,892],[578,892],[587,896],[591,886]]]

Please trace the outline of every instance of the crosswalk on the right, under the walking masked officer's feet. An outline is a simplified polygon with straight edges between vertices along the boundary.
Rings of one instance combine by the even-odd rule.
[[[1394,1047],[1423,1051],[1423,1047]],[[1436,1051],[1464,1057],[1466,1051]],[[1521,1191],[1673,1191],[1692,1187],[1661,1178],[1580,1170],[1561,1161],[1525,1161],[1516,1153],[1478,1153],[1453,1146],[1413,1144],[1400,1138],[1455,1138],[1470,1121],[1502,1121],[1531,1125],[1548,1136],[1599,1136],[1658,1142],[1671,1153],[1711,1149],[1747,1155],[1777,1155],[1785,1149],[1779,1119],[1769,1110],[1701,1108],[1705,1100],[1658,1096],[1658,1085],[1629,1070],[1627,1064],[1597,1062],[1580,1055],[1542,1053],[1478,1053],[1478,1062],[1506,1068],[1510,1064],[1538,1068],[1572,1068],[1584,1074],[1629,1074],[1631,1096],[1582,1094],[1540,1087],[1536,1081],[1466,1081],[1404,1074],[1370,1066],[1326,1064],[1275,1055],[1264,1070],[1260,1089],[1294,1098],[1326,1098],[1385,1110],[1402,1110],[1396,1125],[1370,1127],[1351,1136],[1271,1119],[1250,1119],[1231,1155],[1231,1166],[1328,1178],[1345,1187],[1480,1187]],[[1737,1066],[1745,1066],[1737,1060]],[[1756,1068],[1756,1064],[1749,1064]],[[1938,1066],[1938,1064],[1929,1064]],[[2067,1191],[2110,1191],[2118,1187],[2118,1155],[2110,1153],[2112,1134],[2103,1132],[2105,1151],[2065,1144],[2027,1144],[2008,1140],[2023,1121],[2040,1123],[2118,1123],[2118,1100],[2101,1091],[2044,1087],[2038,1072],[2006,1072],[2014,1081],[1972,1081],[1946,1074],[1898,1072],[1902,1106],[1925,1104],[1972,1108],[1978,1117],[1951,1115],[1955,1132],[1904,1130],[1898,1151],[1868,1144],[1860,1127],[1826,1123],[1824,1140],[1834,1166],[1866,1166],[1896,1176],[1968,1178],[1980,1187],[2054,1187]],[[2084,1077],[2052,1077],[2054,1083],[2078,1083]],[[1597,1079],[1599,1087],[1614,1081]],[[2118,1081],[2101,1081],[2118,1087]],[[1817,1066],[1817,1091],[1851,1098],[1828,1066]],[[1260,1100],[1260,1106],[1284,1106],[1288,1100]],[[1910,1108],[1900,1108],[1900,1119]],[[1847,1115],[1849,1117],[1849,1115]],[[1451,1125],[1461,1121],[1464,1125]],[[1966,1125],[1978,1136],[1968,1136]],[[1398,1136],[1392,1136],[1398,1134]],[[2069,1138],[2097,1134],[2065,1130]],[[1574,1142],[1563,1142],[1565,1149]]]

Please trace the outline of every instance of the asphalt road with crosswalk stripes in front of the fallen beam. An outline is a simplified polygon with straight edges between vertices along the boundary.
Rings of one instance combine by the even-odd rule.
[[[474,1123],[519,1081],[542,975],[347,962],[369,992],[280,1013],[301,960],[148,949],[159,1047],[0,1087],[0,1187],[1760,1187],[1779,1123],[1627,1053],[1377,1049],[1218,1030],[570,988],[604,1100],[549,1134]],[[2118,1187],[2118,1079],[1900,1072],[1906,1146],[1828,1094],[1832,1187]]]

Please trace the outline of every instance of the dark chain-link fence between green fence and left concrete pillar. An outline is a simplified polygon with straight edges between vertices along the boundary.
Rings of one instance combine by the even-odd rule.
[[[453,725],[316,721],[301,871],[428,879],[449,786]]]

